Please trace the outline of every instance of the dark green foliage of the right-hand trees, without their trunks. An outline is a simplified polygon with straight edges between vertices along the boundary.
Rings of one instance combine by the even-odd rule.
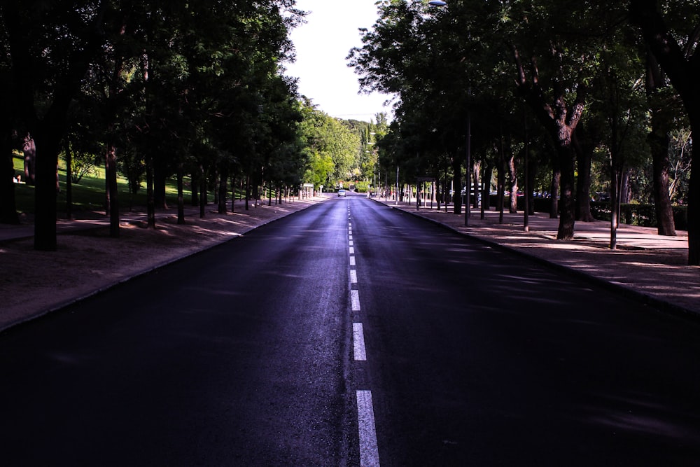
[[[473,160],[481,167],[499,165],[500,153],[516,153],[522,167],[527,138],[529,159],[538,168],[535,188],[549,191],[554,146],[547,135],[556,132],[542,123],[570,122],[575,117],[572,104],[578,101],[588,133],[585,143],[595,149],[591,193],[609,191],[614,163],[629,176],[634,199],[651,201],[647,48],[626,22],[628,2],[447,3],[445,8],[429,8],[426,2],[381,1],[380,18],[364,32],[363,46],[350,51],[349,66],[365,90],[398,95],[395,120],[379,141],[380,160],[400,167],[401,179],[409,183],[416,176],[452,176],[452,162],[463,159],[465,123],[471,116]],[[690,3],[662,2],[669,26],[682,31],[674,36],[690,38],[685,43],[688,54],[700,39],[688,34],[700,15],[698,3]],[[514,85],[517,63],[521,76],[536,82],[540,92],[540,109],[525,115]],[[680,123],[684,119],[678,99],[674,102],[671,94],[664,108]],[[533,120],[537,112],[547,118]],[[677,125],[683,126],[687,124]],[[669,189],[674,201],[687,200],[692,140],[673,141],[686,144],[674,142],[671,147]]]

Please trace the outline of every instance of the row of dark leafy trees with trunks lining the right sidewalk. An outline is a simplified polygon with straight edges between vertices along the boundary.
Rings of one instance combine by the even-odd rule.
[[[531,193],[547,170],[540,190],[553,194],[559,239],[591,220],[591,180],[608,179],[619,201],[629,176],[648,172],[659,233],[675,235],[669,188],[678,193],[682,181],[669,181],[669,154],[671,135],[700,128],[699,1],[448,0],[436,8],[383,0],[378,8],[348,58],[365,90],[398,95],[379,146],[386,170],[450,176],[462,187],[470,160],[474,190],[488,195],[496,168],[501,196],[522,186]],[[692,165],[700,162],[690,157],[692,137],[681,139],[691,165],[682,196],[689,264],[698,265],[700,169]]]

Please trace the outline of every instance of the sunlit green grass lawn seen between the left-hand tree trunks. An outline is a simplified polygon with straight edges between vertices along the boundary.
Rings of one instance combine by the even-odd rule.
[[[20,155],[15,155],[14,166],[16,174],[24,174],[24,160]],[[59,163],[58,181],[60,192],[58,194],[58,211],[66,210],[66,168],[63,161]],[[141,183],[141,189],[132,195],[129,193],[127,180],[122,176],[117,179],[119,205],[122,209],[146,206],[146,186]],[[186,199],[189,195],[189,179],[185,180]],[[165,188],[167,203],[177,205],[177,184],[175,180],[168,180]],[[34,187],[25,183],[15,185],[15,199],[18,212],[31,214],[34,212]],[[73,211],[92,211],[104,209],[105,181],[104,167],[96,167],[95,173],[83,176],[80,183],[73,183]]]

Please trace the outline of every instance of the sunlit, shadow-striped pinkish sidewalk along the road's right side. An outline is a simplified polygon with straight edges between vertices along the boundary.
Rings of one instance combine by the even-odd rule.
[[[472,209],[465,227],[464,214],[453,214],[451,205],[446,213],[444,205],[438,211],[436,204],[416,209],[415,204],[376,201],[615,288],[666,312],[700,318],[700,267],[687,265],[687,232],[664,237],[655,228],[620,225],[617,249],[612,251],[609,222],[577,222],[574,239],[561,241],[556,240],[559,219],[547,214],[529,216],[525,232],[522,212],[504,213],[499,223],[498,212],[486,211],[482,219],[481,211]]]

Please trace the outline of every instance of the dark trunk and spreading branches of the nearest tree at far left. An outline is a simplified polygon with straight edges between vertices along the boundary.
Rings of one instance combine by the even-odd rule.
[[[55,2],[54,2],[55,3]],[[69,26],[64,36],[69,43],[78,39],[80,47],[66,47],[69,51],[63,56],[61,50],[55,50],[57,56],[49,54],[54,64],[62,63],[55,76],[51,76],[52,99],[50,102],[37,102],[38,80],[35,73],[34,61],[42,62],[32,50],[36,44],[37,34],[45,27],[45,18],[51,18],[52,2],[43,4],[45,8],[36,8],[22,2],[3,2],[3,25],[5,26],[3,41],[4,51],[10,57],[11,73],[13,74],[13,94],[16,97],[16,108],[24,123],[29,127],[29,133],[36,144],[36,190],[34,191],[34,249],[55,251],[56,214],[57,214],[57,167],[61,139],[65,133],[66,116],[73,97],[79,92],[80,84],[87,72],[92,58],[104,45],[104,13],[108,2],[99,4],[94,9],[90,24],[76,22],[79,27]],[[41,11],[39,11],[41,10]],[[38,12],[38,13],[37,13]],[[58,48],[60,49],[60,48]],[[41,65],[40,65],[41,67]],[[41,107],[42,111],[38,111]],[[8,111],[8,109],[3,109]],[[41,118],[38,115],[41,114]]]

